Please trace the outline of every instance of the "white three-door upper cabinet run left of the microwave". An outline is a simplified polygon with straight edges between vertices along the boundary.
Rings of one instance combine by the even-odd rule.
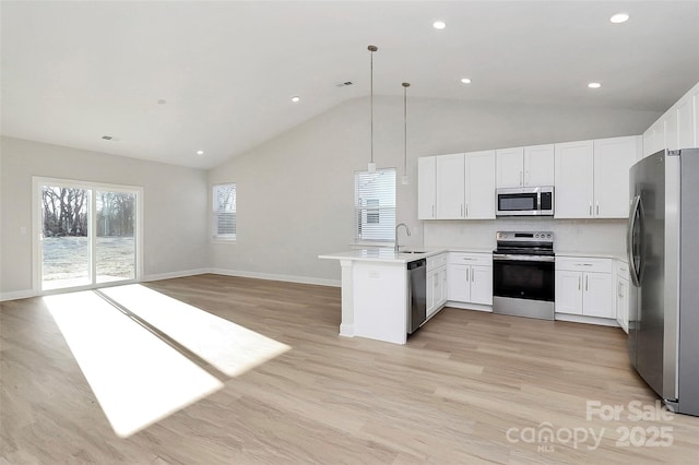
[[[495,219],[495,151],[422,157],[419,219]]]

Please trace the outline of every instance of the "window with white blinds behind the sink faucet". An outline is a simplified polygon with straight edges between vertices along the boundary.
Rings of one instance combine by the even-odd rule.
[[[395,168],[356,171],[355,241],[392,242],[395,229]]]

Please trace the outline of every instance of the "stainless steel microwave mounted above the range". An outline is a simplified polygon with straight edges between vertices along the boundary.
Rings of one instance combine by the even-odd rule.
[[[554,187],[495,191],[496,216],[554,216]]]

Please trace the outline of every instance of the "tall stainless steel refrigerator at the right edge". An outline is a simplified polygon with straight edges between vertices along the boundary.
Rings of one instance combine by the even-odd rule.
[[[638,162],[630,196],[631,365],[672,410],[699,415],[699,148]]]

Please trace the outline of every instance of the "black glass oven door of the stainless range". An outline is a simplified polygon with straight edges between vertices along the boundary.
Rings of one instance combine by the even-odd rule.
[[[493,296],[554,301],[555,258],[493,254]]]

